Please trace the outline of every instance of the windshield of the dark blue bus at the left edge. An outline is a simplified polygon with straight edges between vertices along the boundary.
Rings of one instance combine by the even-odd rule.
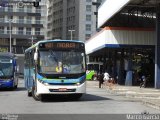
[[[13,62],[9,58],[0,58],[0,78],[13,76]]]

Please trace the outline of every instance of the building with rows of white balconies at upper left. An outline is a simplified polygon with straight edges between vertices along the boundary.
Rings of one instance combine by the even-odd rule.
[[[38,4],[38,6],[36,6]],[[0,50],[23,54],[34,42],[46,36],[46,0],[0,2]],[[10,43],[11,42],[11,43]]]

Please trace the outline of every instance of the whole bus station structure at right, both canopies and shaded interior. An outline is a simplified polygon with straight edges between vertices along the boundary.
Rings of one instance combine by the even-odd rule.
[[[86,42],[91,61],[102,61],[122,85],[160,88],[160,1],[106,0],[98,9],[102,31]],[[114,5],[114,6],[113,6]]]

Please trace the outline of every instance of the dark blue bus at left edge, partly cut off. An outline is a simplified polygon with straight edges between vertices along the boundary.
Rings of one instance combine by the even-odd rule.
[[[16,89],[18,86],[16,56],[0,52],[0,88]]]

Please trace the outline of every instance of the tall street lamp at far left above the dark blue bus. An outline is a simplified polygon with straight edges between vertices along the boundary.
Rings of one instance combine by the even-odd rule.
[[[9,23],[9,51],[10,53],[12,52],[12,23],[15,21],[15,19],[10,19],[10,20],[7,20],[6,22]]]

